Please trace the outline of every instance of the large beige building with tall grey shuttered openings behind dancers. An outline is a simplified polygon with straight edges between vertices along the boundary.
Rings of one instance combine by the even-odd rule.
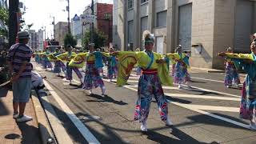
[[[115,19],[116,18],[116,19]],[[155,36],[154,50],[190,50],[191,66],[223,67],[219,51],[250,52],[256,31],[254,0],[114,0],[114,45],[143,50],[142,33]],[[128,46],[130,46],[128,48]]]

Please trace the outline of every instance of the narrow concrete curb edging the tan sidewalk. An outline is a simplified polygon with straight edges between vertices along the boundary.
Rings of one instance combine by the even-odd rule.
[[[38,129],[40,132],[42,144],[56,143],[54,140],[54,134],[52,133],[50,125],[47,121],[45,111],[39,102],[38,94],[36,94],[34,90],[31,91],[31,100],[34,106],[36,118],[38,120]]]

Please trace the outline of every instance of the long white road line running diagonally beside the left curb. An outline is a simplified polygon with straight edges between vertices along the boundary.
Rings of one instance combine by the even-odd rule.
[[[66,106],[66,103],[62,101],[62,98],[58,96],[58,94],[54,91],[50,84],[46,81],[44,83],[46,85],[46,88],[50,91],[50,94],[52,94],[53,98],[56,100],[56,102],[58,102],[58,105],[61,106],[63,112],[65,112],[70,120],[74,123],[74,126],[77,127],[77,129],[86,139],[86,141],[89,143],[100,143],[98,142],[98,139],[90,133],[90,130],[88,130],[86,126],[79,120],[79,118],[73,113],[73,111],[70,110],[68,106]]]

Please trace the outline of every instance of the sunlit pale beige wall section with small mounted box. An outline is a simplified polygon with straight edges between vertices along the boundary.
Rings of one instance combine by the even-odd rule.
[[[202,44],[201,54],[195,54],[191,48],[191,66],[211,68],[214,55],[214,0],[193,1],[191,30],[191,44]]]

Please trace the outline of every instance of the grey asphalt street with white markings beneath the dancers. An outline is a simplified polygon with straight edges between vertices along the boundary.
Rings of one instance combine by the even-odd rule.
[[[47,98],[74,143],[87,143],[92,137],[100,143],[256,143],[256,132],[248,129],[248,121],[238,117],[241,90],[227,89],[222,82],[224,74],[190,71],[190,86],[164,86],[174,126],[165,126],[160,120],[154,101],[148,132],[142,133],[140,124],[133,121],[138,76],[133,74],[124,87],[104,78],[106,95],[102,96],[99,88],[90,95],[70,86],[65,78],[34,67],[47,77],[53,89]],[[79,85],[75,74],[74,83]],[[63,102],[74,114],[71,118]]]

